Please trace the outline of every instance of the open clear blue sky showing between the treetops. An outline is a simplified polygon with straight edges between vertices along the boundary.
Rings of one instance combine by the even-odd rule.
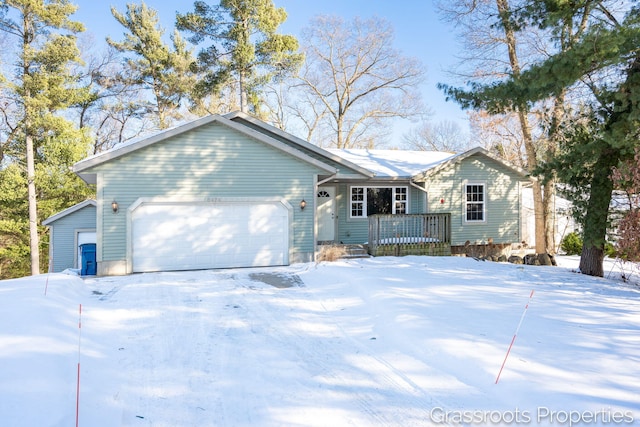
[[[104,44],[106,36],[114,40],[123,38],[123,28],[110,12],[110,6],[119,11],[126,10],[127,0],[75,0],[79,9],[75,19],[84,23],[87,33],[94,37],[97,46]],[[193,10],[193,2],[169,2],[148,0],[146,4],[158,12],[160,23],[169,33],[175,24],[176,12]],[[178,5],[176,5],[178,4]],[[418,58],[426,69],[426,80],[422,85],[423,100],[431,110],[431,120],[454,121],[467,131],[466,113],[454,102],[447,102],[444,94],[437,89],[438,83],[455,83],[447,74],[456,64],[456,38],[450,25],[442,22],[431,0],[405,0],[399,7],[388,0],[274,0],[277,7],[287,11],[287,21],[280,32],[300,36],[301,30],[317,15],[339,15],[349,20],[355,17],[373,16],[387,19],[395,30],[396,48],[404,55]],[[394,141],[415,124],[403,122],[396,125]]]

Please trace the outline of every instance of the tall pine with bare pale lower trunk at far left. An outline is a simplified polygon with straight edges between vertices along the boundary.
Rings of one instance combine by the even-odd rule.
[[[11,180],[16,195],[22,184],[26,187],[31,274],[40,272],[37,183],[48,179],[38,179],[38,165],[45,166],[50,150],[64,151],[61,141],[80,145],[86,141],[56,115],[86,96],[75,87],[77,79],[69,68],[79,60],[74,34],[83,31],[80,23],[69,19],[75,10],[67,0],[5,0],[0,4],[0,31],[17,46],[15,72],[3,78],[3,158],[8,166],[2,170],[2,180],[4,184]],[[26,174],[20,183],[17,172],[22,168]],[[14,236],[16,233],[20,233],[19,225],[14,227]]]

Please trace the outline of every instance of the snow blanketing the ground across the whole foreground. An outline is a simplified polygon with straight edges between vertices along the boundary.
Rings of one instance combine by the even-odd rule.
[[[640,288],[576,260],[2,281],[0,419],[73,425],[79,364],[80,426],[640,425]]]

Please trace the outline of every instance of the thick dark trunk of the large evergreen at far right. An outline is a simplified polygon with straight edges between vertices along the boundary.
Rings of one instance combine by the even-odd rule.
[[[589,276],[604,276],[604,243],[607,237],[609,204],[613,192],[611,172],[618,164],[619,153],[608,148],[602,150],[595,164],[589,205],[584,219],[584,235],[580,272]]]

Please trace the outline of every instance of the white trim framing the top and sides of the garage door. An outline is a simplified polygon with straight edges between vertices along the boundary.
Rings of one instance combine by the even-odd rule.
[[[140,197],[127,208],[126,218],[126,273],[133,273],[133,214],[143,205],[211,205],[229,203],[280,203],[288,213],[288,240],[289,247],[284,254],[284,263],[289,265],[291,251],[293,250],[293,206],[285,199],[279,197]]]

